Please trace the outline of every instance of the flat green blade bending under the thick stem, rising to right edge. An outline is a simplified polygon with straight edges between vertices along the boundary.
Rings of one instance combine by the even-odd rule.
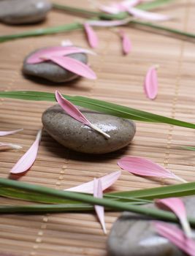
[[[195,195],[195,182],[188,182],[186,184],[176,184],[166,187],[157,187],[152,189],[138,189],[125,192],[110,192],[104,193],[105,198],[112,200],[122,200],[132,203],[150,203],[156,198],[166,197],[184,197]],[[36,192],[26,192],[23,189],[14,189],[12,187],[0,187],[0,196],[10,197],[20,200],[28,200],[37,203],[73,203],[72,200],[65,200],[57,197],[40,195]],[[78,203],[74,201],[74,204]]]

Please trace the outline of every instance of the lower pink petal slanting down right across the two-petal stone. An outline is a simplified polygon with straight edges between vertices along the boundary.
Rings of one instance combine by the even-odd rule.
[[[60,67],[63,67],[64,69],[67,69],[84,78],[92,80],[96,79],[96,74],[93,72],[93,70],[83,62],[77,61],[77,59],[73,59],[67,56],[50,56],[50,61],[53,61]]]

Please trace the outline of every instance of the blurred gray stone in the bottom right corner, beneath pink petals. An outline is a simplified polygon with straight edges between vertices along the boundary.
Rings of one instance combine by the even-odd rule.
[[[195,197],[186,197],[187,214],[195,217]],[[154,207],[151,205],[143,207]],[[109,256],[184,256],[167,238],[158,236],[149,218],[124,212],[112,226],[107,241]]]

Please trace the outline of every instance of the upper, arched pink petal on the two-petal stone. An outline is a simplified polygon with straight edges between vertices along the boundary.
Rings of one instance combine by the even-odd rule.
[[[26,62],[28,64],[38,64],[43,61],[47,61],[50,59],[51,56],[66,56],[73,53],[89,53],[96,55],[93,51],[83,48],[77,48],[75,46],[55,46],[50,47],[42,50],[37,50],[36,53],[32,54],[28,57]]]

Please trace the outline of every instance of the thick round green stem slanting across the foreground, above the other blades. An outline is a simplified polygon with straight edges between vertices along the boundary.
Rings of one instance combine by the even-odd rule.
[[[143,214],[147,217],[154,219],[161,219],[170,222],[179,222],[175,214],[169,213],[167,211],[158,210],[155,208],[145,208],[143,206],[134,206],[127,203],[121,203],[118,201],[113,201],[107,198],[98,198],[91,195],[84,195],[76,192],[65,192],[58,189],[50,189],[47,187],[37,186],[33,184],[28,184],[20,181],[9,180],[6,178],[0,178],[0,186],[11,187],[15,189],[23,189],[28,192],[37,192],[42,195],[50,195],[53,197],[64,198],[69,200],[77,200],[83,203],[90,203],[91,205],[99,205],[113,210],[119,211],[131,211],[137,214]],[[192,226],[195,226],[195,219],[189,219],[188,221]]]

